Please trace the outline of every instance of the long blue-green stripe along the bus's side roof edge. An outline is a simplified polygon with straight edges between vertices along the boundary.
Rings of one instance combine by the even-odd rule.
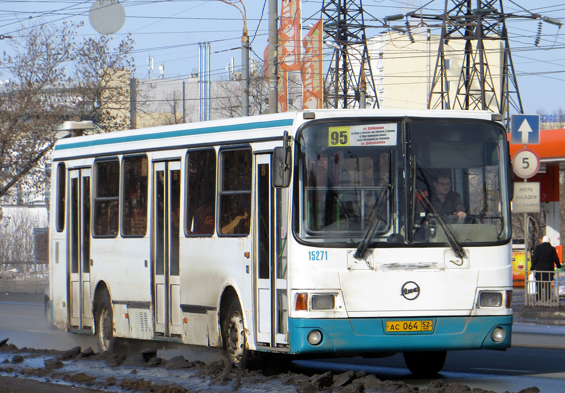
[[[212,134],[212,133],[229,132],[229,131],[245,131],[245,130],[253,130],[259,128],[268,128],[268,127],[284,127],[284,126],[291,126],[292,123],[293,123],[293,119],[282,119],[282,120],[270,120],[270,121],[257,121],[255,123],[219,125],[219,126],[207,127],[207,128],[194,128],[189,130],[176,130],[176,131],[168,131],[168,132],[160,132],[160,133],[152,133],[152,134],[139,134],[139,135],[132,135],[127,137],[96,139],[95,141],[66,143],[64,145],[56,145],[55,150],[76,149],[77,147],[90,147],[90,146],[99,146],[99,145],[112,145],[114,143],[147,141],[151,139],[186,137],[186,136],[198,135],[198,134]]]

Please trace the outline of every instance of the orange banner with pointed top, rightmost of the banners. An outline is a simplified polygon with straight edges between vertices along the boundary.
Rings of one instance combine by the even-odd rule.
[[[320,18],[310,29],[302,43],[304,56],[301,67],[302,108],[316,109],[324,106],[324,76],[322,72],[323,23]]]

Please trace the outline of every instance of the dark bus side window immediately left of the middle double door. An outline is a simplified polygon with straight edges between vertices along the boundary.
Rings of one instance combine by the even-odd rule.
[[[122,235],[144,236],[147,230],[147,156],[124,157]]]

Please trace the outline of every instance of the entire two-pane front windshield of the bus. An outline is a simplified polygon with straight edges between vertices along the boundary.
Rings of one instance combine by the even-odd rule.
[[[305,126],[296,141],[294,230],[302,241],[509,238],[506,134],[494,123],[332,120]]]

